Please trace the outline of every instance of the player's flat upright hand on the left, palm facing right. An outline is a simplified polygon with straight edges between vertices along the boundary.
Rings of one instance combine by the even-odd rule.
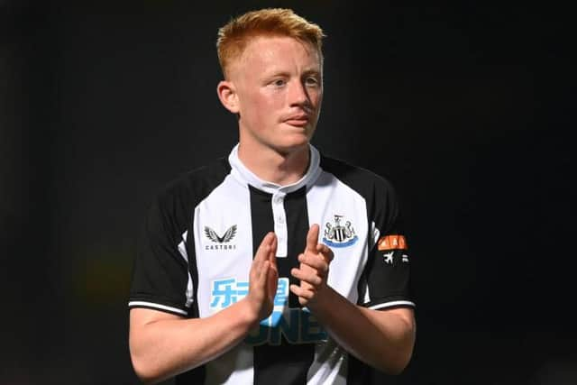
[[[262,238],[249,275],[249,294],[246,299],[251,304],[253,316],[257,317],[256,322],[270,316],[278,284],[277,237],[269,233]]]

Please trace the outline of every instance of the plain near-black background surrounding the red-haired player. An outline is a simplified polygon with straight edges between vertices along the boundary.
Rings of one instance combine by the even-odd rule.
[[[417,346],[374,382],[577,383],[568,10],[209,3],[0,0],[0,383],[137,383],[135,234],[236,142],[217,28],[278,5],[328,35],[313,142],[402,197]]]

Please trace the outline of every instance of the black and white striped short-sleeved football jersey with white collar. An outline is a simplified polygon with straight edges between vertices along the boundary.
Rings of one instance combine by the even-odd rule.
[[[151,205],[134,263],[129,307],[206,317],[248,293],[265,234],[278,238],[274,310],[243,343],[177,383],[351,384],[366,367],[334,343],[289,291],[310,225],[334,252],[328,284],[363,307],[414,307],[408,247],[386,179],[310,146],[307,174],[289,186],[243,166],[238,146],[165,188]],[[340,315],[346,316],[346,315]]]

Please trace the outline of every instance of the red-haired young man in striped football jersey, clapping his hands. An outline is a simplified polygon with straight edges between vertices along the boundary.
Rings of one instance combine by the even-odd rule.
[[[309,144],[322,37],[284,9],[220,29],[217,93],[239,144],[151,206],[129,303],[142,380],[363,383],[366,364],[407,365],[414,304],[392,189]]]

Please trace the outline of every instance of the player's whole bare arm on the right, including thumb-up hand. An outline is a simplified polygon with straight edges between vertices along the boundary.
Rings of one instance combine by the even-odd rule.
[[[333,254],[317,239],[318,225],[313,225],[307,249],[298,257],[300,267],[291,271],[301,284],[291,285],[291,291],[349,353],[380,371],[398,374],[407,366],[415,344],[413,310],[372,310],[343,298],[326,284]]]

